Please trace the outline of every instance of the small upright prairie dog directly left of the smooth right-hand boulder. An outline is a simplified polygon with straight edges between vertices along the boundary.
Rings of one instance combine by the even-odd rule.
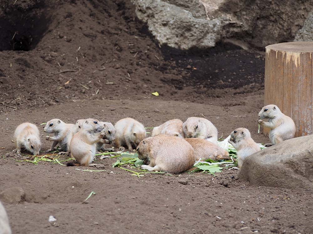
[[[251,138],[251,134],[246,128],[235,129],[230,134],[228,142],[237,150],[239,168],[241,168],[246,157],[261,150],[258,144]]]

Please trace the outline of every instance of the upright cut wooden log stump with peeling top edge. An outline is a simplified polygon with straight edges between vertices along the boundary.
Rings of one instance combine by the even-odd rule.
[[[312,134],[313,42],[266,46],[265,105],[275,104],[295,121],[295,136]],[[268,134],[269,129],[264,128]]]

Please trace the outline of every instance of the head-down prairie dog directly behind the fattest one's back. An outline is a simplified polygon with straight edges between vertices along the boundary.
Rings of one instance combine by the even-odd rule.
[[[159,134],[164,134],[168,136],[177,136],[180,138],[185,138],[185,134],[182,131],[182,120],[172,119],[168,120],[160,126],[154,127],[151,136],[156,136]]]

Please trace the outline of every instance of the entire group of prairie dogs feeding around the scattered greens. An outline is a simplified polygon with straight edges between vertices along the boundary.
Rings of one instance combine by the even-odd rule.
[[[267,119],[268,121],[264,121]],[[281,113],[276,105],[267,105],[259,112],[258,122],[271,129],[269,138],[272,144],[278,144],[295,135],[293,120]],[[105,143],[115,144],[118,149],[137,150],[138,157],[148,165],[142,165],[149,171],[183,172],[192,168],[196,160],[211,158],[213,160],[229,159],[226,150],[219,147],[218,130],[208,120],[190,117],[184,123],[172,119],[152,130],[151,137],[146,137],[144,126],[135,119],[119,120],[114,126],[97,119],[79,119],[76,124],[66,124],[60,119],[51,119],[44,127],[44,132],[54,134],[46,136],[53,141],[46,152],[51,152],[59,144],[59,154],[69,154],[76,163],[68,166],[95,166],[92,163],[96,152],[112,150],[103,148]],[[228,142],[237,149],[238,165],[242,166],[244,158],[260,150],[245,128],[235,129]],[[41,148],[39,131],[34,124],[23,123],[15,130],[14,138],[20,153],[22,148],[34,155]]]

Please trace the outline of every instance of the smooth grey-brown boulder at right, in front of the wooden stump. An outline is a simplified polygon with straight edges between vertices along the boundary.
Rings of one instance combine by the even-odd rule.
[[[239,178],[257,185],[313,189],[313,135],[286,140],[250,155]]]

